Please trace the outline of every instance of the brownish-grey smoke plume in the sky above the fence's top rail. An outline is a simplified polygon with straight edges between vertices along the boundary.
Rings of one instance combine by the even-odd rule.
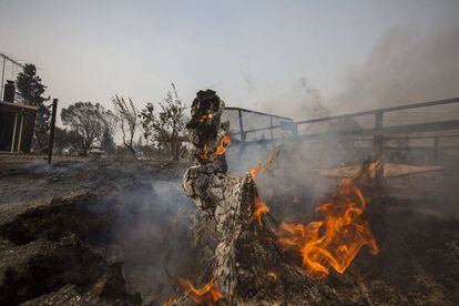
[[[322,93],[314,75],[289,88],[266,89],[255,109],[295,120],[320,118],[459,96],[459,2],[441,18],[394,26],[361,64],[344,75],[336,92]],[[339,55],[337,51],[337,55]]]

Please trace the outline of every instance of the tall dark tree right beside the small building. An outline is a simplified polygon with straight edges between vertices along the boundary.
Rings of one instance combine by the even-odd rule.
[[[47,86],[41,83],[40,76],[37,75],[37,68],[31,63],[24,64],[22,72],[18,74],[16,84],[22,99],[30,105],[37,106],[34,146],[41,150],[48,145],[50,131],[51,111],[44,105],[49,98],[43,98]]]

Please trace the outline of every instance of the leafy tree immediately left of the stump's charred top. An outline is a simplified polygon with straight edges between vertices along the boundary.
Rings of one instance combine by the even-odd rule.
[[[145,139],[165,147],[173,160],[178,160],[187,120],[186,106],[178,98],[174,83],[171,83],[171,86],[172,91],[170,90],[163,102],[159,103],[160,111],[155,113],[154,105],[147,103],[140,118]]]

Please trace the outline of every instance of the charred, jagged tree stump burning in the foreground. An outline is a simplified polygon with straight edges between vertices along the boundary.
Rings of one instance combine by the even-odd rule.
[[[277,226],[266,214],[253,176],[227,173],[230,126],[221,122],[223,109],[214,91],[200,91],[186,126],[198,164],[187,170],[183,186],[196,204],[194,244],[207,267],[201,280],[214,282],[227,300],[274,297],[318,303],[318,289],[278,249]],[[287,297],[292,290],[295,297]]]

